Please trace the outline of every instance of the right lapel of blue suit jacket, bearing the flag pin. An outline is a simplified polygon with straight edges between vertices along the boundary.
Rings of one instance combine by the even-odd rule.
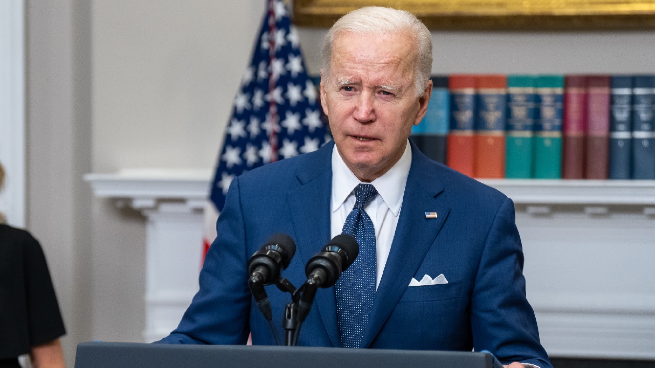
[[[434,163],[413,145],[412,157],[396,234],[362,340],[364,348],[373,342],[398,304],[449,213],[449,208],[435,198],[443,191],[443,185]],[[425,212],[436,212],[437,218],[426,218]]]

